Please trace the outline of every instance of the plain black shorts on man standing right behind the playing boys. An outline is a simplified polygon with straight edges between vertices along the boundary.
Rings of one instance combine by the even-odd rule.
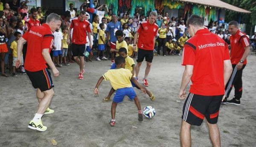
[[[152,50],[144,50],[141,48],[138,48],[138,53],[137,53],[137,62],[143,62],[144,58],[146,62],[152,62],[154,57],[154,51]]]

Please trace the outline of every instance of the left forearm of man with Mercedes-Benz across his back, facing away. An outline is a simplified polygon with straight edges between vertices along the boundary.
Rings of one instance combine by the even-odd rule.
[[[183,72],[182,80],[181,80],[181,86],[180,86],[180,93],[179,98],[180,99],[186,99],[186,86],[189,84],[191,76],[193,74],[193,65],[186,65],[185,70]]]

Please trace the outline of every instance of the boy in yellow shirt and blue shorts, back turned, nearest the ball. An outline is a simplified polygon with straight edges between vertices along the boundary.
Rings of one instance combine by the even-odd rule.
[[[110,69],[108,72],[104,73],[98,80],[94,94],[98,95],[99,90],[98,87],[103,80],[109,80],[111,86],[114,90],[116,90],[116,94],[113,98],[113,102],[111,105],[111,121],[109,124],[113,127],[116,124],[116,106],[119,102],[122,102],[124,96],[128,96],[131,100],[134,100],[135,105],[138,109],[138,120],[143,121],[143,111],[140,107],[140,100],[138,99],[134,89],[132,88],[131,81],[132,80],[135,85],[140,88],[140,90],[145,93],[145,89],[137,82],[136,79],[133,78],[130,70],[125,69],[125,59],[122,56],[116,57],[115,59],[116,69]]]

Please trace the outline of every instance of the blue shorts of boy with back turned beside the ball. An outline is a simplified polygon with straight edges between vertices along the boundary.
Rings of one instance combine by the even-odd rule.
[[[136,93],[132,87],[117,89],[113,98],[113,102],[122,102],[125,96],[128,96],[131,100],[133,100],[136,96]]]

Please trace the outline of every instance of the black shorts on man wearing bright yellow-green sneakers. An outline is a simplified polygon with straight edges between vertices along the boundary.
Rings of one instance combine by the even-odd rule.
[[[41,71],[26,71],[26,73],[29,76],[34,88],[39,88],[43,92],[54,87],[52,84],[51,73],[47,70],[47,68]]]

